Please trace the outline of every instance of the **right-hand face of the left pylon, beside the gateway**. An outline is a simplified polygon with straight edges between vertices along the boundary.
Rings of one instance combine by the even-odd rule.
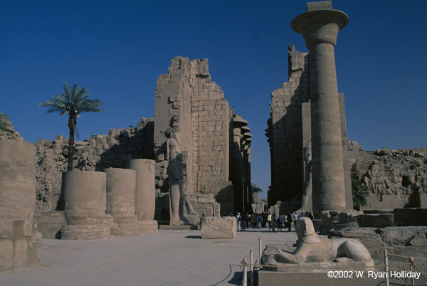
[[[207,59],[191,60],[193,187],[213,194],[221,214],[233,212],[230,188],[230,108],[221,88],[211,81]]]

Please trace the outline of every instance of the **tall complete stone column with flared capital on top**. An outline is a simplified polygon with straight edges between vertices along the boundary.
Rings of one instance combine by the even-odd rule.
[[[334,46],[348,16],[332,9],[331,1],[309,2],[307,12],[290,24],[301,33],[310,50],[310,99],[312,116],[313,211],[344,210],[341,121]]]

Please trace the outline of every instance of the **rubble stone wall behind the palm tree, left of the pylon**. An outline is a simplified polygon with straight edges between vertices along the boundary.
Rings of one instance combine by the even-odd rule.
[[[108,134],[75,142],[74,169],[102,171],[125,168],[127,159],[154,159],[153,131],[153,120],[142,118],[136,128],[110,129]],[[62,209],[61,173],[67,170],[68,138],[39,139],[36,147],[36,209]]]

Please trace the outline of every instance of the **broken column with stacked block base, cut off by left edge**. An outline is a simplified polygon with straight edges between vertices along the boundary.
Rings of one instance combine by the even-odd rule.
[[[0,139],[0,271],[38,265],[36,147]]]

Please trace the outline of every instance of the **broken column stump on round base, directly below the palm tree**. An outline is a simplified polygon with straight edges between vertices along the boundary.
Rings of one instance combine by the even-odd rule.
[[[65,171],[62,194],[65,201],[63,239],[109,238],[112,216],[105,214],[106,176],[100,171]]]

